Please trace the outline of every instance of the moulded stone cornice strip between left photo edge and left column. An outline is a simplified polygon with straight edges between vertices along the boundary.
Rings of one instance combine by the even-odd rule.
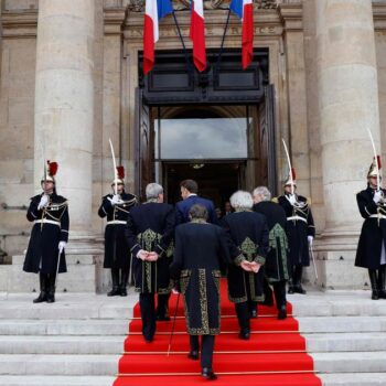
[[[3,39],[36,37],[37,10],[2,11],[1,24]]]

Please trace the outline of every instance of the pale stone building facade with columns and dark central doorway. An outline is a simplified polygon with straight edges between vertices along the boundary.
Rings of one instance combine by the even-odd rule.
[[[319,279],[309,270],[309,280],[368,285],[353,261],[355,193],[373,158],[367,129],[386,152],[386,2],[255,1],[245,72],[228,1],[204,3],[207,71],[192,66],[189,1],[178,0],[178,26],[162,19],[154,69],[143,76],[143,0],[2,1],[0,247],[14,258],[0,266],[0,290],[32,289],[20,261],[44,159],[58,162],[57,190],[69,199],[75,274],[62,286],[105,289],[97,208],[112,179],[109,139],[130,192],[156,180],[172,203],[179,181],[194,178],[218,206],[237,189],[280,193],[285,139],[315,218]]]

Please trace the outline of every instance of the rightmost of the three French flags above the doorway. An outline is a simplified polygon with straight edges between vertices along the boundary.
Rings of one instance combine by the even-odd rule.
[[[242,56],[243,68],[247,68],[254,58],[254,4],[253,0],[232,0],[230,11],[243,22]]]

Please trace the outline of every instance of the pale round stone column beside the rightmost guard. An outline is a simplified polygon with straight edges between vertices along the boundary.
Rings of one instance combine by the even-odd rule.
[[[314,82],[318,81],[319,88],[325,213],[320,248],[325,251],[324,259],[350,260],[347,267],[352,267],[362,224],[355,194],[366,186],[373,159],[366,128],[372,130],[379,149],[372,1],[317,0],[313,3],[318,76]],[[353,277],[346,280],[347,286],[352,285]]]

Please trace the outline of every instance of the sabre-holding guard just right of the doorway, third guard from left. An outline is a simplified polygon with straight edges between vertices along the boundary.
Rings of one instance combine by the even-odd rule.
[[[290,285],[288,293],[305,293],[301,286],[303,267],[310,265],[310,251],[315,236],[310,202],[296,193],[297,182],[294,170],[290,169],[285,182],[285,194],[278,197],[278,203],[286,212],[287,236],[289,244]]]

